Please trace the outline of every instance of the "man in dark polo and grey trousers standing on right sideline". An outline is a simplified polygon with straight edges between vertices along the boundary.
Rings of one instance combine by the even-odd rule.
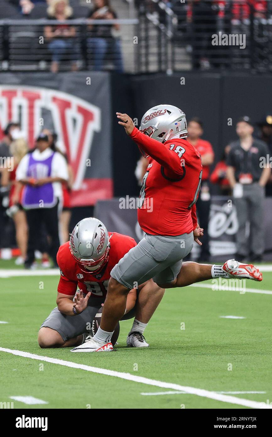
[[[244,116],[236,124],[239,137],[232,142],[227,156],[227,178],[233,189],[237,209],[237,254],[247,260],[261,261],[264,252],[264,199],[269,180],[269,150],[265,142],[255,139],[250,118]],[[246,224],[250,224],[247,233]]]

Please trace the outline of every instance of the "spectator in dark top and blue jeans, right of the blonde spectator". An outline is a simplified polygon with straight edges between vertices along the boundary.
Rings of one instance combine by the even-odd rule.
[[[110,6],[110,0],[95,0],[95,7],[90,12],[89,18],[92,20],[113,20],[117,18],[116,12]],[[88,38],[88,45],[94,55],[94,69],[101,70],[106,53],[112,54],[115,71],[122,73],[124,70],[121,41],[119,38],[114,38],[112,30],[119,31],[119,24],[95,24],[88,26],[91,37]]]

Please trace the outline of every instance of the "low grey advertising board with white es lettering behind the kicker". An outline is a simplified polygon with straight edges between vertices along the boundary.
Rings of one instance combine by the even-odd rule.
[[[212,257],[224,257],[236,253],[235,234],[238,230],[237,210],[231,199],[226,196],[212,196],[208,232]],[[96,203],[94,216],[102,220],[111,232],[133,237],[137,242],[144,232],[137,221],[138,198],[114,198]],[[272,198],[265,199],[265,211],[272,210]],[[197,202],[196,202],[197,211]],[[248,227],[247,232],[250,232]],[[265,252],[272,251],[272,218],[265,215]],[[193,247],[192,256],[197,257],[198,247]],[[217,259],[219,259],[217,258]]]

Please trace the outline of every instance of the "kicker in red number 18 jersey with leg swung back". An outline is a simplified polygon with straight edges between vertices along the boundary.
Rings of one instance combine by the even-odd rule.
[[[138,222],[145,237],[111,271],[100,327],[83,344],[89,352],[113,350],[110,339],[126,308],[134,283],[150,278],[162,288],[185,287],[206,279],[247,278],[262,281],[251,264],[228,260],[223,266],[185,262],[203,229],[197,223],[196,200],[200,191],[202,164],[197,150],[186,141],[184,112],[172,105],[149,109],[140,131],[127,114],[117,112],[145,156],[150,156],[138,201]],[[151,295],[150,295],[151,297]],[[73,349],[73,351],[75,351]]]

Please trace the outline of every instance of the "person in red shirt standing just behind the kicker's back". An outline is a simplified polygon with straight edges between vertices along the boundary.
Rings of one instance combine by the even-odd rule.
[[[199,260],[209,261],[210,259],[210,246],[209,246],[209,216],[210,216],[210,188],[209,188],[209,174],[210,165],[213,163],[214,154],[213,147],[210,142],[202,139],[203,124],[200,118],[194,117],[188,122],[188,141],[196,148],[201,155],[201,161],[203,165],[203,174],[200,195],[197,201],[197,216],[199,218],[200,225],[203,229],[206,229],[202,237],[202,246]]]

